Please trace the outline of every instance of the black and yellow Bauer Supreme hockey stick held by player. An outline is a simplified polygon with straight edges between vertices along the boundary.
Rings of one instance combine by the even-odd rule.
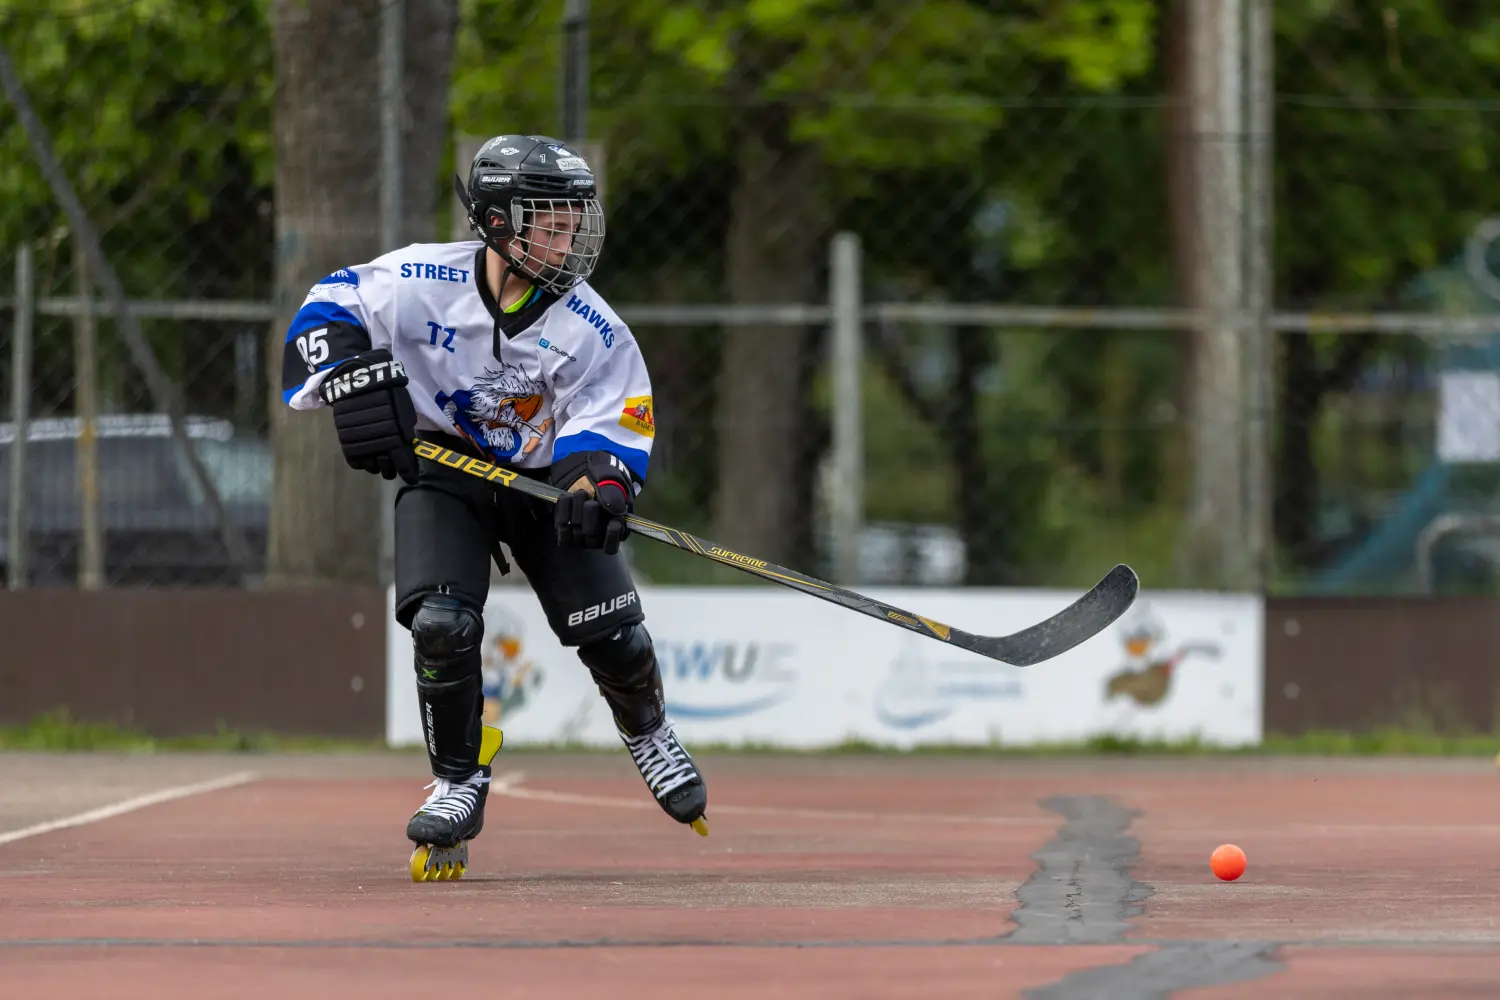
[[[416,451],[423,459],[430,459],[438,465],[444,465],[459,472],[466,472],[468,475],[478,477],[486,483],[500,483],[501,486],[520,490],[522,493],[530,493],[531,496],[537,496],[550,504],[555,504],[560,496],[564,496],[564,490],[560,490],[555,486],[520,475],[514,469],[507,469],[490,462],[460,454],[452,448],[432,444],[430,441],[422,441],[418,438],[416,441]],[[694,556],[722,562],[723,565],[734,567],[742,573],[748,573],[750,576],[758,576],[762,580],[771,580],[772,583],[789,586],[794,591],[801,591],[802,594],[810,594],[825,601],[831,601],[842,607],[848,607],[852,612],[860,612],[861,615],[868,615],[870,618],[900,625],[909,631],[920,633],[922,636],[928,636],[930,639],[938,639],[952,646],[958,646],[960,649],[968,649],[982,657],[999,660],[1017,667],[1029,667],[1041,663],[1042,660],[1050,660],[1058,654],[1072,649],[1086,639],[1092,639],[1130,609],[1130,606],[1136,601],[1136,591],[1140,588],[1140,582],[1136,579],[1136,571],[1122,562],[1110,570],[1102,580],[1095,583],[1094,589],[1052,618],[1038,622],[1030,628],[1023,628],[1018,633],[1011,633],[1010,636],[975,636],[960,628],[944,625],[942,622],[936,622],[930,618],[922,618],[921,615],[891,607],[890,604],[884,604],[872,597],[864,597],[862,594],[846,591],[840,586],[834,586],[832,583],[816,580],[810,576],[796,573],[795,570],[786,570],[772,562],[766,562],[765,559],[756,559],[753,556],[724,549],[723,546],[717,546],[706,538],[699,538],[698,535],[690,535],[686,531],[658,525],[654,520],[646,520],[645,517],[638,517],[636,514],[626,514],[626,523],[630,525],[630,531],[642,534],[646,538],[654,538],[656,541],[672,546],[674,549],[681,549],[682,552],[690,552]]]

